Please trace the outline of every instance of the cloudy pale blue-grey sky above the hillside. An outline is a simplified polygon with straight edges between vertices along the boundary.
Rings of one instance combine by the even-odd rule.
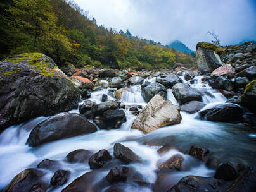
[[[75,0],[98,25],[195,50],[214,31],[222,45],[256,40],[255,0]]]

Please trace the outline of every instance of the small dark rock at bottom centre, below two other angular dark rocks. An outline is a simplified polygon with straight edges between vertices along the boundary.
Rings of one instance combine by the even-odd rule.
[[[106,180],[110,183],[125,182],[127,180],[129,167],[115,167],[110,169],[110,172],[106,175]]]

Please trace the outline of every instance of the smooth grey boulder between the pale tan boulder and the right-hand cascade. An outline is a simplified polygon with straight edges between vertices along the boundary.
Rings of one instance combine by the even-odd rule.
[[[189,101],[201,101],[201,95],[186,84],[177,83],[172,87],[172,93],[179,104],[186,104]]]

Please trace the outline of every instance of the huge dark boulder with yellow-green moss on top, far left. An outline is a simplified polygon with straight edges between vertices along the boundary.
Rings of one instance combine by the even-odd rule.
[[[76,109],[79,90],[44,54],[30,53],[0,62],[0,131],[33,117]]]

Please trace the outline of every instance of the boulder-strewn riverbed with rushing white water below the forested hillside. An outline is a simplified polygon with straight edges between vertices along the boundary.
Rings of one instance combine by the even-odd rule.
[[[256,46],[199,43],[198,69],[0,63],[0,189],[254,191]]]

